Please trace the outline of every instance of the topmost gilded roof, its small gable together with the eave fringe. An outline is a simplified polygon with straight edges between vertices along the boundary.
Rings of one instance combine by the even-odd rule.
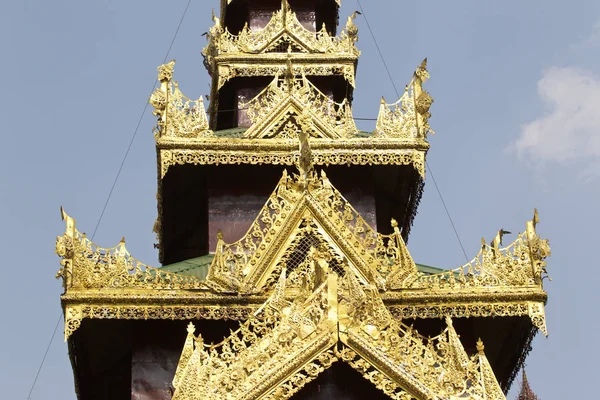
[[[352,86],[355,84],[360,52],[355,46],[357,29],[351,19],[337,37],[330,36],[324,26],[311,32],[283,1],[281,9],[260,30],[246,25],[234,35],[222,26],[220,18],[213,17],[213,21],[202,54],[209,72],[217,77],[217,89],[234,77],[283,74],[289,58],[293,59],[296,75],[342,75]],[[281,49],[289,49],[289,58]]]

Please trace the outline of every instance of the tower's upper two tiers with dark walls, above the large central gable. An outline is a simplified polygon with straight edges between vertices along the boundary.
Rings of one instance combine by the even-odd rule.
[[[208,112],[202,97],[192,100],[179,89],[174,61],[158,68],[160,87],[150,103],[158,116],[155,231],[162,263],[215,251],[223,201],[247,210],[244,223],[238,218],[235,227],[224,228],[226,239],[239,237],[258,211],[258,199],[298,160],[301,133],[311,140],[312,162],[331,172],[370,222],[391,233],[388,221],[394,218],[408,240],[423,190],[427,136],[433,133],[433,99],[423,88],[426,60],[397,102],[374,104],[374,129],[359,130],[352,112],[357,13],[336,36],[338,10],[334,0],[223,1],[204,49],[212,75]],[[241,182],[248,187],[242,190]],[[232,194],[241,192],[253,205],[239,196],[235,203]],[[196,205],[194,211],[183,206],[188,203]]]

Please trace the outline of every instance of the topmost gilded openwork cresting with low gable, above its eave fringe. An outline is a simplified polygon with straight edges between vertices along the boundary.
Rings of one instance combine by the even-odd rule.
[[[221,20],[214,16],[214,26],[209,31],[209,44],[203,50],[209,64],[221,54],[260,54],[277,51],[278,47],[291,47],[301,53],[328,53],[351,55],[358,58],[360,52],[355,46],[356,32],[343,30],[338,37],[329,35],[325,26],[318,32],[311,32],[298,21],[286,0],[281,9],[275,11],[271,20],[260,30],[251,30],[248,24],[238,35],[234,35]],[[348,28],[348,26],[347,26]]]

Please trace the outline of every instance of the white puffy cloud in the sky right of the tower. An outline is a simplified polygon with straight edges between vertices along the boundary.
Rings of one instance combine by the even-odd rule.
[[[551,68],[538,82],[545,115],[521,128],[513,148],[535,164],[600,163],[600,79],[581,68]],[[599,171],[600,174],[600,171]]]

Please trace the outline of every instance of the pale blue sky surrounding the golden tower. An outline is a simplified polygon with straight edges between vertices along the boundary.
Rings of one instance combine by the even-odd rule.
[[[94,230],[186,0],[2,1],[0,96],[0,383],[26,398],[60,313],[54,238],[59,207]],[[358,8],[342,2],[341,21]],[[600,326],[594,279],[600,211],[600,2],[363,1],[396,86],[424,57],[435,99],[428,155],[469,256],[481,236],[522,231],[538,207],[550,239],[547,322],[528,365],[543,399],[596,389]],[[209,92],[200,51],[217,0],[192,0],[169,59],[189,97]],[[354,116],[375,118],[395,100],[365,21]],[[127,238],[157,264],[154,117],[144,116],[95,242]],[[372,130],[374,122],[360,127]],[[444,268],[464,256],[430,177],[409,249]],[[32,399],[74,399],[62,326]],[[513,391],[514,392],[514,391]]]

